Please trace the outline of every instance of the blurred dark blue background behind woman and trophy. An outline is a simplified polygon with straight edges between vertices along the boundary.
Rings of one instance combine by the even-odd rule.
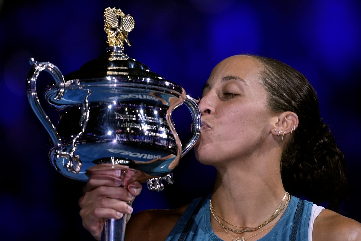
[[[201,95],[214,65],[239,53],[272,57],[304,73],[347,160],[343,213],[361,221],[360,1],[0,0],[1,240],[92,240],[79,217],[84,183],[50,165],[48,134],[30,108],[25,82],[30,57],[66,75],[103,54],[106,7],[135,18],[125,52],[192,97]],[[174,112],[182,139],[190,126],[184,108]],[[174,184],[159,193],[144,188],[134,209],[184,204],[209,192],[213,178],[213,168],[190,151]]]

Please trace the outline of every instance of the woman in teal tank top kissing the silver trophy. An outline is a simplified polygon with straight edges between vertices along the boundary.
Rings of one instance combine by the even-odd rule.
[[[199,162],[217,170],[213,193],[176,210],[133,215],[126,240],[361,240],[361,224],[330,209],[345,191],[343,155],[305,77],[279,61],[231,56],[212,71],[199,102]],[[79,199],[100,240],[107,218],[131,214],[137,173],[91,176]],[[118,199],[118,200],[117,200]],[[124,201],[119,201],[119,199]]]

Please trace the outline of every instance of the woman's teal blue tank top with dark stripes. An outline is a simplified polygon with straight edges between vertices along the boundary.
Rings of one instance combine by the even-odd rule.
[[[211,195],[194,199],[165,241],[222,241],[210,226],[210,198]],[[312,206],[312,202],[291,196],[278,223],[258,241],[308,241]]]

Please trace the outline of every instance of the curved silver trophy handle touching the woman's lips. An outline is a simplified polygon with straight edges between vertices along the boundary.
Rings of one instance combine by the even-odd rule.
[[[201,112],[199,111],[197,103],[199,100],[193,99],[191,96],[187,95],[184,103],[187,105],[189,111],[192,115],[193,126],[192,126],[192,133],[190,139],[187,141],[186,145],[182,148],[181,157],[186,154],[194,144],[196,143],[199,134],[201,133]]]

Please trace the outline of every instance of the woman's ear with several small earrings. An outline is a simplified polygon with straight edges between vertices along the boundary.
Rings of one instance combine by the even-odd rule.
[[[294,132],[298,126],[298,116],[295,112],[285,111],[278,115],[277,122],[274,123],[272,134],[284,135]]]

